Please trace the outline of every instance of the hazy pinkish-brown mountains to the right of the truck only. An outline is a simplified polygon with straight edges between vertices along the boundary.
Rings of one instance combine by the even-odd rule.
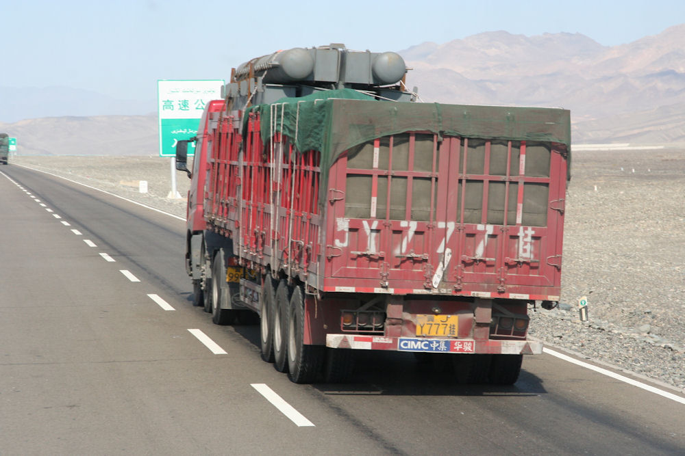
[[[621,46],[479,33],[399,51],[424,101],[571,109],[574,142],[685,142],[685,24]]]

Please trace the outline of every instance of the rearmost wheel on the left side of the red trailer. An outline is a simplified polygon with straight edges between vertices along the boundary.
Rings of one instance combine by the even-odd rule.
[[[304,293],[296,286],[288,314],[288,378],[300,384],[316,380],[325,354],[321,345],[304,344],[304,319]]]

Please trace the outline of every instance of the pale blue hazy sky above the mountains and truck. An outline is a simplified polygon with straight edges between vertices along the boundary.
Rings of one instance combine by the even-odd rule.
[[[583,33],[606,46],[685,23],[684,0],[0,0],[0,87],[156,99],[158,79],[229,79],[291,47],[400,51],[484,31]]]

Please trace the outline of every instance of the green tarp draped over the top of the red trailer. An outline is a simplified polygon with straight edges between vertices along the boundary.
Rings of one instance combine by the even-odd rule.
[[[273,133],[282,131],[297,151],[319,150],[321,170],[327,170],[353,146],[408,131],[556,142],[571,151],[571,115],[558,108],[379,101],[356,90],[342,89],[253,106],[245,113],[244,128],[250,112],[260,113],[264,144]],[[327,173],[321,174],[321,190],[325,191]]]

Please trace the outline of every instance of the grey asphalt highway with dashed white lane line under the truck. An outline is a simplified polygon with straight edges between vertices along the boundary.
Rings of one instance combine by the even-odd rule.
[[[191,306],[184,222],[0,172],[0,455],[685,454],[683,394],[549,354],[506,388],[366,352],[351,384],[292,384],[260,360],[256,325]]]

